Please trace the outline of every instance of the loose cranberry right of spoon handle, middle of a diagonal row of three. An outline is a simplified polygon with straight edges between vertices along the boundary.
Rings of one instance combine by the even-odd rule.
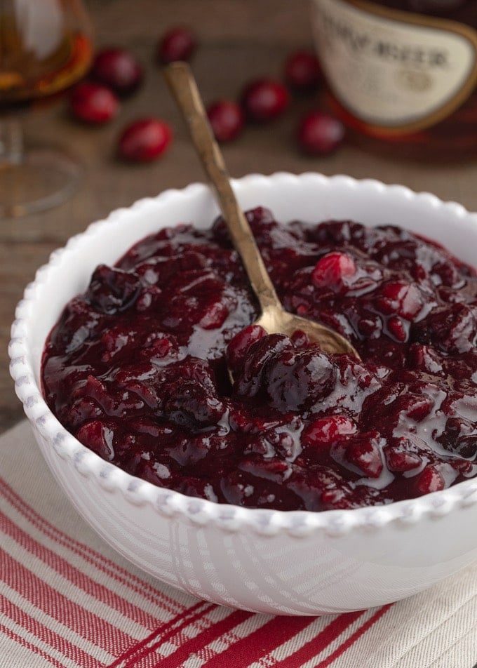
[[[263,123],[281,116],[288,107],[290,95],[280,81],[257,79],[244,88],[241,105],[251,121]]]

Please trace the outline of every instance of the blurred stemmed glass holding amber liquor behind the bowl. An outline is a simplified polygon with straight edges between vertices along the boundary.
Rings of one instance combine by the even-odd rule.
[[[25,142],[18,112],[50,105],[81,79],[90,35],[81,0],[0,0],[0,220],[58,206],[79,183],[67,150],[39,133],[39,142]]]

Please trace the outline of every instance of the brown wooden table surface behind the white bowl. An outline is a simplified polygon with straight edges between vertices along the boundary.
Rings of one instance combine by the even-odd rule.
[[[203,173],[187,131],[154,63],[158,37],[172,25],[187,24],[201,46],[194,72],[206,102],[236,97],[243,83],[255,76],[280,76],[283,60],[296,48],[311,45],[308,0],[96,0],[88,4],[98,46],[130,48],[146,67],[140,91],[123,102],[119,116],[102,128],[81,126],[69,118],[65,100],[27,114],[27,137],[64,145],[83,166],[76,194],[62,206],[40,215],[4,220],[0,226],[0,430],[22,417],[8,373],[7,345],[15,304],[36,269],[54,248],[83,231],[109,211],[170,187],[203,181]],[[270,126],[250,127],[234,144],[224,147],[233,176],[274,171],[347,173],[402,183],[434,192],[477,210],[477,160],[446,166],[417,164],[384,156],[347,142],[333,156],[302,156],[293,142],[293,128],[314,98],[295,101],[285,117]],[[128,121],[156,115],[175,131],[173,147],[153,164],[131,166],[114,157],[116,137]]]

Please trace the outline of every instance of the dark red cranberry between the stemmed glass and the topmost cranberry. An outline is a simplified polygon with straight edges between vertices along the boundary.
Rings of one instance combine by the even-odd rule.
[[[90,75],[117,95],[130,95],[139,88],[143,72],[132,53],[113,47],[96,54]]]

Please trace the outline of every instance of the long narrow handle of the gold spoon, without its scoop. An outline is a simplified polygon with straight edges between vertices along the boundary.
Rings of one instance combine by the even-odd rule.
[[[253,232],[230,185],[222,152],[208,123],[206,110],[189,65],[186,62],[173,62],[163,68],[163,74],[189,127],[202,166],[215,189],[232,243],[241,257],[262,312],[269,307],[280,307],[280,300],[255,243]]]

